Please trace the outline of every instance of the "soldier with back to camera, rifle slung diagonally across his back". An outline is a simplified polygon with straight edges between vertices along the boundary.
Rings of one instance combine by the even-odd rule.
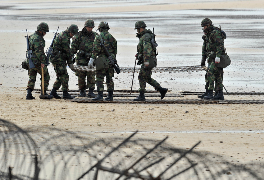
[[[116,39],[108,32],[109,25],[106,21],[100,22],[98,26],[98,30],[100,31],[102,40],[107,51],[112,55],[113,59],[116,58],[117,54],[117,42]],[[106,85],[107,85],[107,92],[108,96],[104,100],[113,100],[113,92],[114,92],[114,82],[112,78],[114,77],[114,67],[110,64],[104,49],[102,48],[100,36],[97,35],[93,42],[93,52],[92,57],[88,63],[88,67],[93,67],[94,59],[96,59],[95,63],[102,62],[104,67],[102,69],[98,69],[95,71],[95,84],[97,86],[98,95],[93,98],[92,100],[102,100],[103,99],[103,90],[104,90],[104,77],[106,76]]]

